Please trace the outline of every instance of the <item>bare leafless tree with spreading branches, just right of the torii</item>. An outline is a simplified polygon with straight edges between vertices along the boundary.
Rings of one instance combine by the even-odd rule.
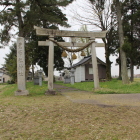
[[[82,12],[74,11],[74,19],[81,24],[92,25],[96,29],[102,31],[108,30],[106,39],[102,39],[105,43],[105,57],[106,57],[106,78],[111,79],[111,64],[109,57],[116,49],[116,38],[113,34],[117,26],[116,19],[112,13],[112,0],[85,0],[84,6],[78,6]]]

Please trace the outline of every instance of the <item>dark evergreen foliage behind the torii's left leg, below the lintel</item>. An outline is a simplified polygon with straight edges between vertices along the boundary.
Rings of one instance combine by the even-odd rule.
[[[54,28],[53,28],[54,29]],[[31,62],[33,65],[38,64],[43,68],[45,75],[48,76],[48,52],[49,46],[38,46],[38,41],[44,41],[48,39],[47,37],[38,37],[35,34],[32,37],[31,45]],[[63,39],[60,37],[56,37],[55,40],[62,42]],[[33,47],[32,47],[33,46]],[[54,68],[56,70],[62,70],[64,68],[64,61],[61,57],[62,49],[58,46],[54,47]]]

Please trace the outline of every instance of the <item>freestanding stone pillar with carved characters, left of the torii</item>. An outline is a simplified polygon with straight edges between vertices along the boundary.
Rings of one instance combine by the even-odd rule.
[[[25,79],[25,41],[23,37],[17,38],[17,84],[15,95],[28,95]]]

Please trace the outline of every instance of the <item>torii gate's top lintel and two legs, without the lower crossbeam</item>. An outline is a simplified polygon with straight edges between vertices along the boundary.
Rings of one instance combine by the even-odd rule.
[[[54,36],[61,37],[81,37],[81,38],[105,38],[107,31],[101,32],[86,32],[86,31],[63,31],[63,30],[53,30],[45,29],[34,26],[36,29],[36,34],[39,36],[49,36],[50,39],[53,39]],[[47,44],[47,42],[46,42]],[[98,67],[97,67],[97,58],[95,51],[95,42],[92,43],[92,65],[93,65],[93,74],[94,74],[94,89],[99,88],[99,76],[98,76]],[[53,65],[54,65],[54,43],[49,41],[49,67],[48,67],[48,91],[47,93],[55,94],[53,90]]]

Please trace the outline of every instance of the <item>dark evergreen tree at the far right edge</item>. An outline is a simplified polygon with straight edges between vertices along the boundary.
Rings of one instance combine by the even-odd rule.
[[[123,50],[126,52],[128,66],[131,69],[131,82],[134,78],[134,65],[139,65],[140,57],[140,2],[138,0],[125,0],[123,3],[123,28],[125,42]]]

